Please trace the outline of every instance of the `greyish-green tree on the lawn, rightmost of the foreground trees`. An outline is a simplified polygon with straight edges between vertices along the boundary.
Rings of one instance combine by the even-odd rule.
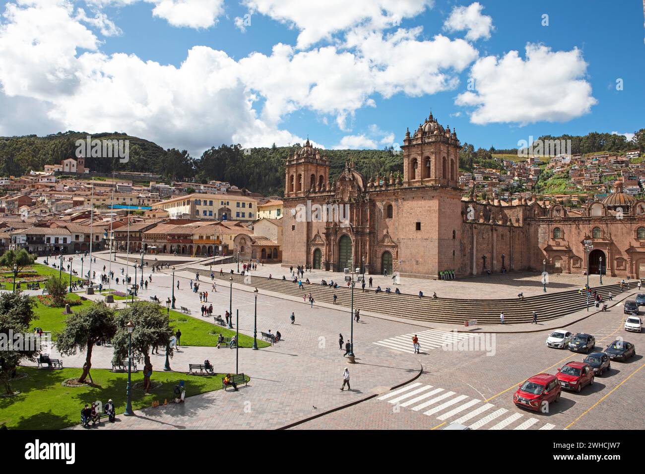
[[[128,331],[126,324],[132,321],[132,357],[135,360],[144,362],[143,383],[146,392],[150,386],[150,348],[153,346],[168,346],[173,330],[170,327],[170,319],[161,306],[149,301],[137,301],[125,310],[118,311],[114,316],[116,333],[112,338],[114,346],[114,362],[128,357]],[[168,348],[172,357],[172,348]]]

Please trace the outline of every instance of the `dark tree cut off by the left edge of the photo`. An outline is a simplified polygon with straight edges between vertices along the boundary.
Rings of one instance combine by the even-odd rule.
[[[34,345],[19,346],[12,344],[15,339],[9,340],[8,336],[25,335],[23,341],[27,342],[26,335],[31,335],[29,330],[34,319],[34,301],[21,293],[2,293],[0,295],[0,379],[5,385],[8,395],[14,393],[11,388],[11,379],[21,360],[35,360],[39,349]],[[31,340],[33,341],[33,339]],[[2,346],[5,347],[2,347]]]

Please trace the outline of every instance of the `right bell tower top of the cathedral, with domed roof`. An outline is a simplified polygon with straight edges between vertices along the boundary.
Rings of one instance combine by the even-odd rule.
[[[403,184],[459,187],[459,150],[457,133],[443,128],[432,116],[403,140]]]

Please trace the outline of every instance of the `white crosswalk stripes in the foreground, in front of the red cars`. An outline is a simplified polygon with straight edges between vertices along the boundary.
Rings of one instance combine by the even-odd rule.
[[[497,408],[491,403],[471,399],[451,390],[413,382],[378,397],[390,404],[421,411],[446,423],[459,423],[471,430],[552,430],[554,424],[525,417],[524,413]],[[426,408],[428,410],[426,410]],[[539,428],[538,428],[539,427]]]

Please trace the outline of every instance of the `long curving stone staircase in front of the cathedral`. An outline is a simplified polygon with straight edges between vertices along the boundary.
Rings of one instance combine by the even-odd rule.
[[[203,281],[210,281],[210,272],[199,268],[186,269],[192,273],[204,275]],[[268,279],[253,275],[250,282],[244,282],[244,277],[239,273],[215,273],[215,279],[220,284],[228,284],[230,277],[233,282],[246,284],[250,288],[261,290],[277,291],[286,295],[302,298],[303,293],[312,293],[315,302],[333,302],[333,295],[337,295],[337,304],[350,308],[352,303],[352,291],[347,288],[346,282],[339,282],[335,290],[329,286],[321,286],[320,282],[304,284],[304,290],[299,290],[297,283],[282,281],[281,279]],[[305,275],[306,278],[306,275]],[[637,286],[637,281],[626,282],[625,290],[628,291]],[[602,285],[592,287],[591,291],[597,291],[604,302],[608,300],[608,293],[611,291],[614,297],[621,294],[620,284]],[[225,291],[224,289],[220,291]],[[590,295],[590,310],[595,310],[593,297]],[[373,289],[363,292],[357,284],[354,289],[354,308],[362,311],[372,311],[388,316],[410,319],[415,321],[441,322],[448,324],[464,324],[469,319],[477,319],[478,324],[499,324],[499,313],[504,311],[504,322],[506,324],[519,324],[531,322],[533,311],[537,312],[539,321],[557,319],[564,315],[584,310],[587,307],[586,295],[579,294],[578,290],[548,292],[542,295],[526,297],[523,300],[513,299],[453,299],[438,298],[432,299],[428,295],[419,298],[418,295],[401,293],[374,293]]]

